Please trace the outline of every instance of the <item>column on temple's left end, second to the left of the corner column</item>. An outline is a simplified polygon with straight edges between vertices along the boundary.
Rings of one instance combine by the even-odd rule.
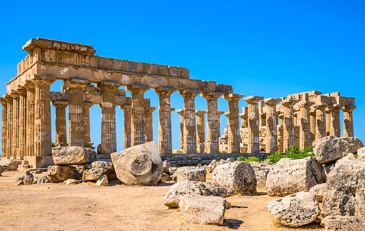
[[[26,155],[27,90],[19,88],[19,156]]]

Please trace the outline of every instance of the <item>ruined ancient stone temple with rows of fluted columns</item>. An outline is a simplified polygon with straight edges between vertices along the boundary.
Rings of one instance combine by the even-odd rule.
[[[286,98],[244,98],[248,107],[240,114],[231,85],[189,78],[183,67],[164,66],[95,56],[91,46],[50,39],[31,39],[23,50],[29,54],[18,64],[18,74],[7,82],[2,104],[1,153],[4,159],[26,159],[33,167],[52,165],[51,132],[56,146],[92,148],[90,108],[101,108],[101,143],[98,159],[116,151],[115,112],[124,111],[124,148],[158,140],[162,156],[213,155],[242,152],[286,151],[294,144],[304,148],[328,134],[353,136],[354,98],[340,93],[310,91]],[[58,92],[50,91],[63,81]],[[125,86],[131,93],[126,97]],[[144,93],[153,88],[158,107]],[[170,96],[179,92],[180,150],[172,149]],[[196,110],[195,98],[206,99],[206,110]],[[220,137],[218,99],[227,100],[227,129]],[[51,117],[51,104],[55,118]],[[118,106],[118,107],[117,107]],[[66,121],[66,108],[69,115]],[[152,112],[158,111],[158,137],[153,137]],[[55,121],[55,131],[51,122]],[[66,127],[68,123],[68,131]],[[178,125],[175,125],[178,126]]]

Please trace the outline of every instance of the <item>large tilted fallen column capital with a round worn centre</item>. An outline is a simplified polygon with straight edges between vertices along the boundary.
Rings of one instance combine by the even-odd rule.
[[[111,153],[115,173],[127,185],[156,184],[162,175],[163,162],[154,141]]]

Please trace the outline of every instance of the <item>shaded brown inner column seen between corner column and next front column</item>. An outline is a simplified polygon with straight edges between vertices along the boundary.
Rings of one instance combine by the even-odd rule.
[[[56,109],[56,126],[55,126],[55,146],[67,145],[66,134],[66,107],[67,101],[53,101],[53,106]]]

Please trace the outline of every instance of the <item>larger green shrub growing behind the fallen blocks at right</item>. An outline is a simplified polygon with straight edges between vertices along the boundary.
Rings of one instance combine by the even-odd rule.
[[[276,151],[273,154],[268,155],[267,160],[272,163],[277,163],[281,158],[303,159],[308,156],[314,156],[312,146],[305,147],[301,150],[298,146],[293,145],[287,153]]]

